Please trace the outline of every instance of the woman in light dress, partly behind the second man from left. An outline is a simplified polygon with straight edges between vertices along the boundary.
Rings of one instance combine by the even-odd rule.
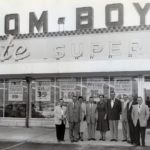
[[[83,102],[83,97],[82,96],[79,96],[78,97],[78,101],[81,105],[81,110],[82,110],[82,119],[81,119],[81,122],[80,122],[80,125],[79,125],[79,139],[81,141],[83,141],[83,133],[85,132],[85,115],[86,115],[86,105],[85,103]]]

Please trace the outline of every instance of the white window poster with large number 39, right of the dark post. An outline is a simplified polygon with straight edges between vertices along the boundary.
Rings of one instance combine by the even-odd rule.
[[[35,81],[35,101],[50,101],[50,85],[50,79],[41,79]]]

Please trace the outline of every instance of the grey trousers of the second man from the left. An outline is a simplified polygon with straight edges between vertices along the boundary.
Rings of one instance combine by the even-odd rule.
[[[70,140],[77,140],[79,133],[79,122],[69,122]]]

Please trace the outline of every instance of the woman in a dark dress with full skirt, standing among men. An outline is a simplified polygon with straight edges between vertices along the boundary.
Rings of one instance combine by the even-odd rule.
[[[99,95],[100,101],[97,104],[98,111],[98,121],[97,121],[97,131],[100,131],[100,139],[105,141],[106,131],[109,130],[109,124],[107,119],[107,103],[104,100],[104,95]]]

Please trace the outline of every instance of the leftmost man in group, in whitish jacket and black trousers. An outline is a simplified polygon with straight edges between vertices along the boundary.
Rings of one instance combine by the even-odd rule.
[[[64,100],[59,100],[59,105],[55,106],[55,126],[56,136],[58,142],[65,141],[65,127],[66,127],[66,107],[63,106]]]

